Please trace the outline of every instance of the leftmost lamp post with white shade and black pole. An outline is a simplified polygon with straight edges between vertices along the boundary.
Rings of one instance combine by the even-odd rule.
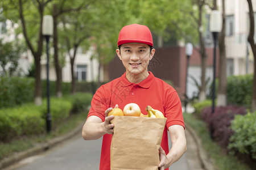
[[[47,116],[46,116],[46,130],[47,133],[51,132],[52,126],[52,116],[50,112],[50,100],[49,100],[49,39],[53,33],[53,19],[51,15],[44,15],[43,25],[42,25],[42,34],[46,39],[46,55],[47,55],[47,64],[46,64],[46,75],[47,75]]]

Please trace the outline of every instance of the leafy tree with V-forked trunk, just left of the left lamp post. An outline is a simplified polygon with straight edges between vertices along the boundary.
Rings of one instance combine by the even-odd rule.
[[[35,60],[35,104],[42,104],[41,56],[43,50],[42,20],[44,10],[52,0],[7,0],[2,1],[5,18],[20,24],[26,45]]]

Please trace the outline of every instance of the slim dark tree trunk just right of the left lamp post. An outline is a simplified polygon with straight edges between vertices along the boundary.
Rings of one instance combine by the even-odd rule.
[[[59,63],[59,50],[58,50],[58,39],[57,39],[57,6],[53,5],[53,47],[54,47],[54,64],[56,71],[56,95],[57,97],[62,96],[61,82],[62,82],[62,72]]]

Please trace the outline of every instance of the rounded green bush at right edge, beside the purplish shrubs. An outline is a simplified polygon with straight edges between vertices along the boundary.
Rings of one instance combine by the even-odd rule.
[[[256,112],[245,116],[237,115],[231,124],[234,134],[229,139],[228,148],[232,153],[240,152],[256,160]]]

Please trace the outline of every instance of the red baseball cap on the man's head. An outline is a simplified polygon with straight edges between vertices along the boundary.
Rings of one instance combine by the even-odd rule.
[[[126,25],[119,33],[117,45],[119,46],[130,42],[139,42],[153,46],[150,29],[145,25]]]

